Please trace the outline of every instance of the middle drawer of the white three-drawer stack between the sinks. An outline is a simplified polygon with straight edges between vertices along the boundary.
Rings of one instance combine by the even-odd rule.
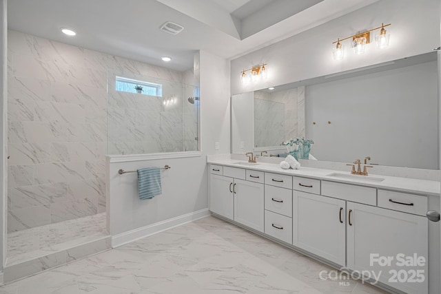
[[[292,190],[265,185],[265,209],[292,218]]]

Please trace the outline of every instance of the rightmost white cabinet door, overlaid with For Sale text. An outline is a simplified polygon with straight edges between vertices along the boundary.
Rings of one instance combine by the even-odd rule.
[[[347,211],[347,267],[406,293],[428,293],[427,218],[353,202]],[[402,264],[404,258],[424,258],[424,265]]]

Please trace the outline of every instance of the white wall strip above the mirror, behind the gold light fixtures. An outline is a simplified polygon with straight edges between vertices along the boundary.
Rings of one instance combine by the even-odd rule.
[[[373,65],[431,51],[440,44],[438,0],[382,0],[351,12],[316,28],[269,45],[232,61],[232,94],[283,85],[343,70]],[[367,52],[356,56],[350,41],[343,41],[346,56],[334,61],[331,44],[337,38],[356,34],[358,30],[391,23],[389,48],[378,50],[375,43]],[[376,32],[374,32],[375,34]],[[371,40],[374,39],[371,34]],[[269,78],[264,83],[243,86],[240,72],[258,63],[268,63]]]

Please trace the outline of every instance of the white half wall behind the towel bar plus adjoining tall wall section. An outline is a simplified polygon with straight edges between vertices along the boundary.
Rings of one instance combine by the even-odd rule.
[[[107,190],[107,214],[110,233],[126,234],[158,222],[196,213],[208,208],[208,177],[206,156],[229,153],[229,63],[225,59],[201,51],[195,74],[201,76],[201,145],[202,152],[194,157],[175,158],[159,154],[160,159],[139,158],[134,161],[107,162],[110,185]],[[215,142],[219,149],[215,150]],[[184,155],[185,156],[185,155]],[[108,158],[109,160],[114,160]],[[130,156],[127,156],[130,158]],[[163,193],[152,200],[139,200],[136,173],[119,175],[119,169],[163,167]],[[141,229],[142,231],[142,229]],[[129,233],[130,234],[130,233]],[[130,239],[130,236],[127,237]]]

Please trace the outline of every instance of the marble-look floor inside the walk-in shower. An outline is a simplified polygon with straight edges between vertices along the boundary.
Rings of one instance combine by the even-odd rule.
[[[8,233],[6,265],[39,258],[106,235],[105,213]]]

